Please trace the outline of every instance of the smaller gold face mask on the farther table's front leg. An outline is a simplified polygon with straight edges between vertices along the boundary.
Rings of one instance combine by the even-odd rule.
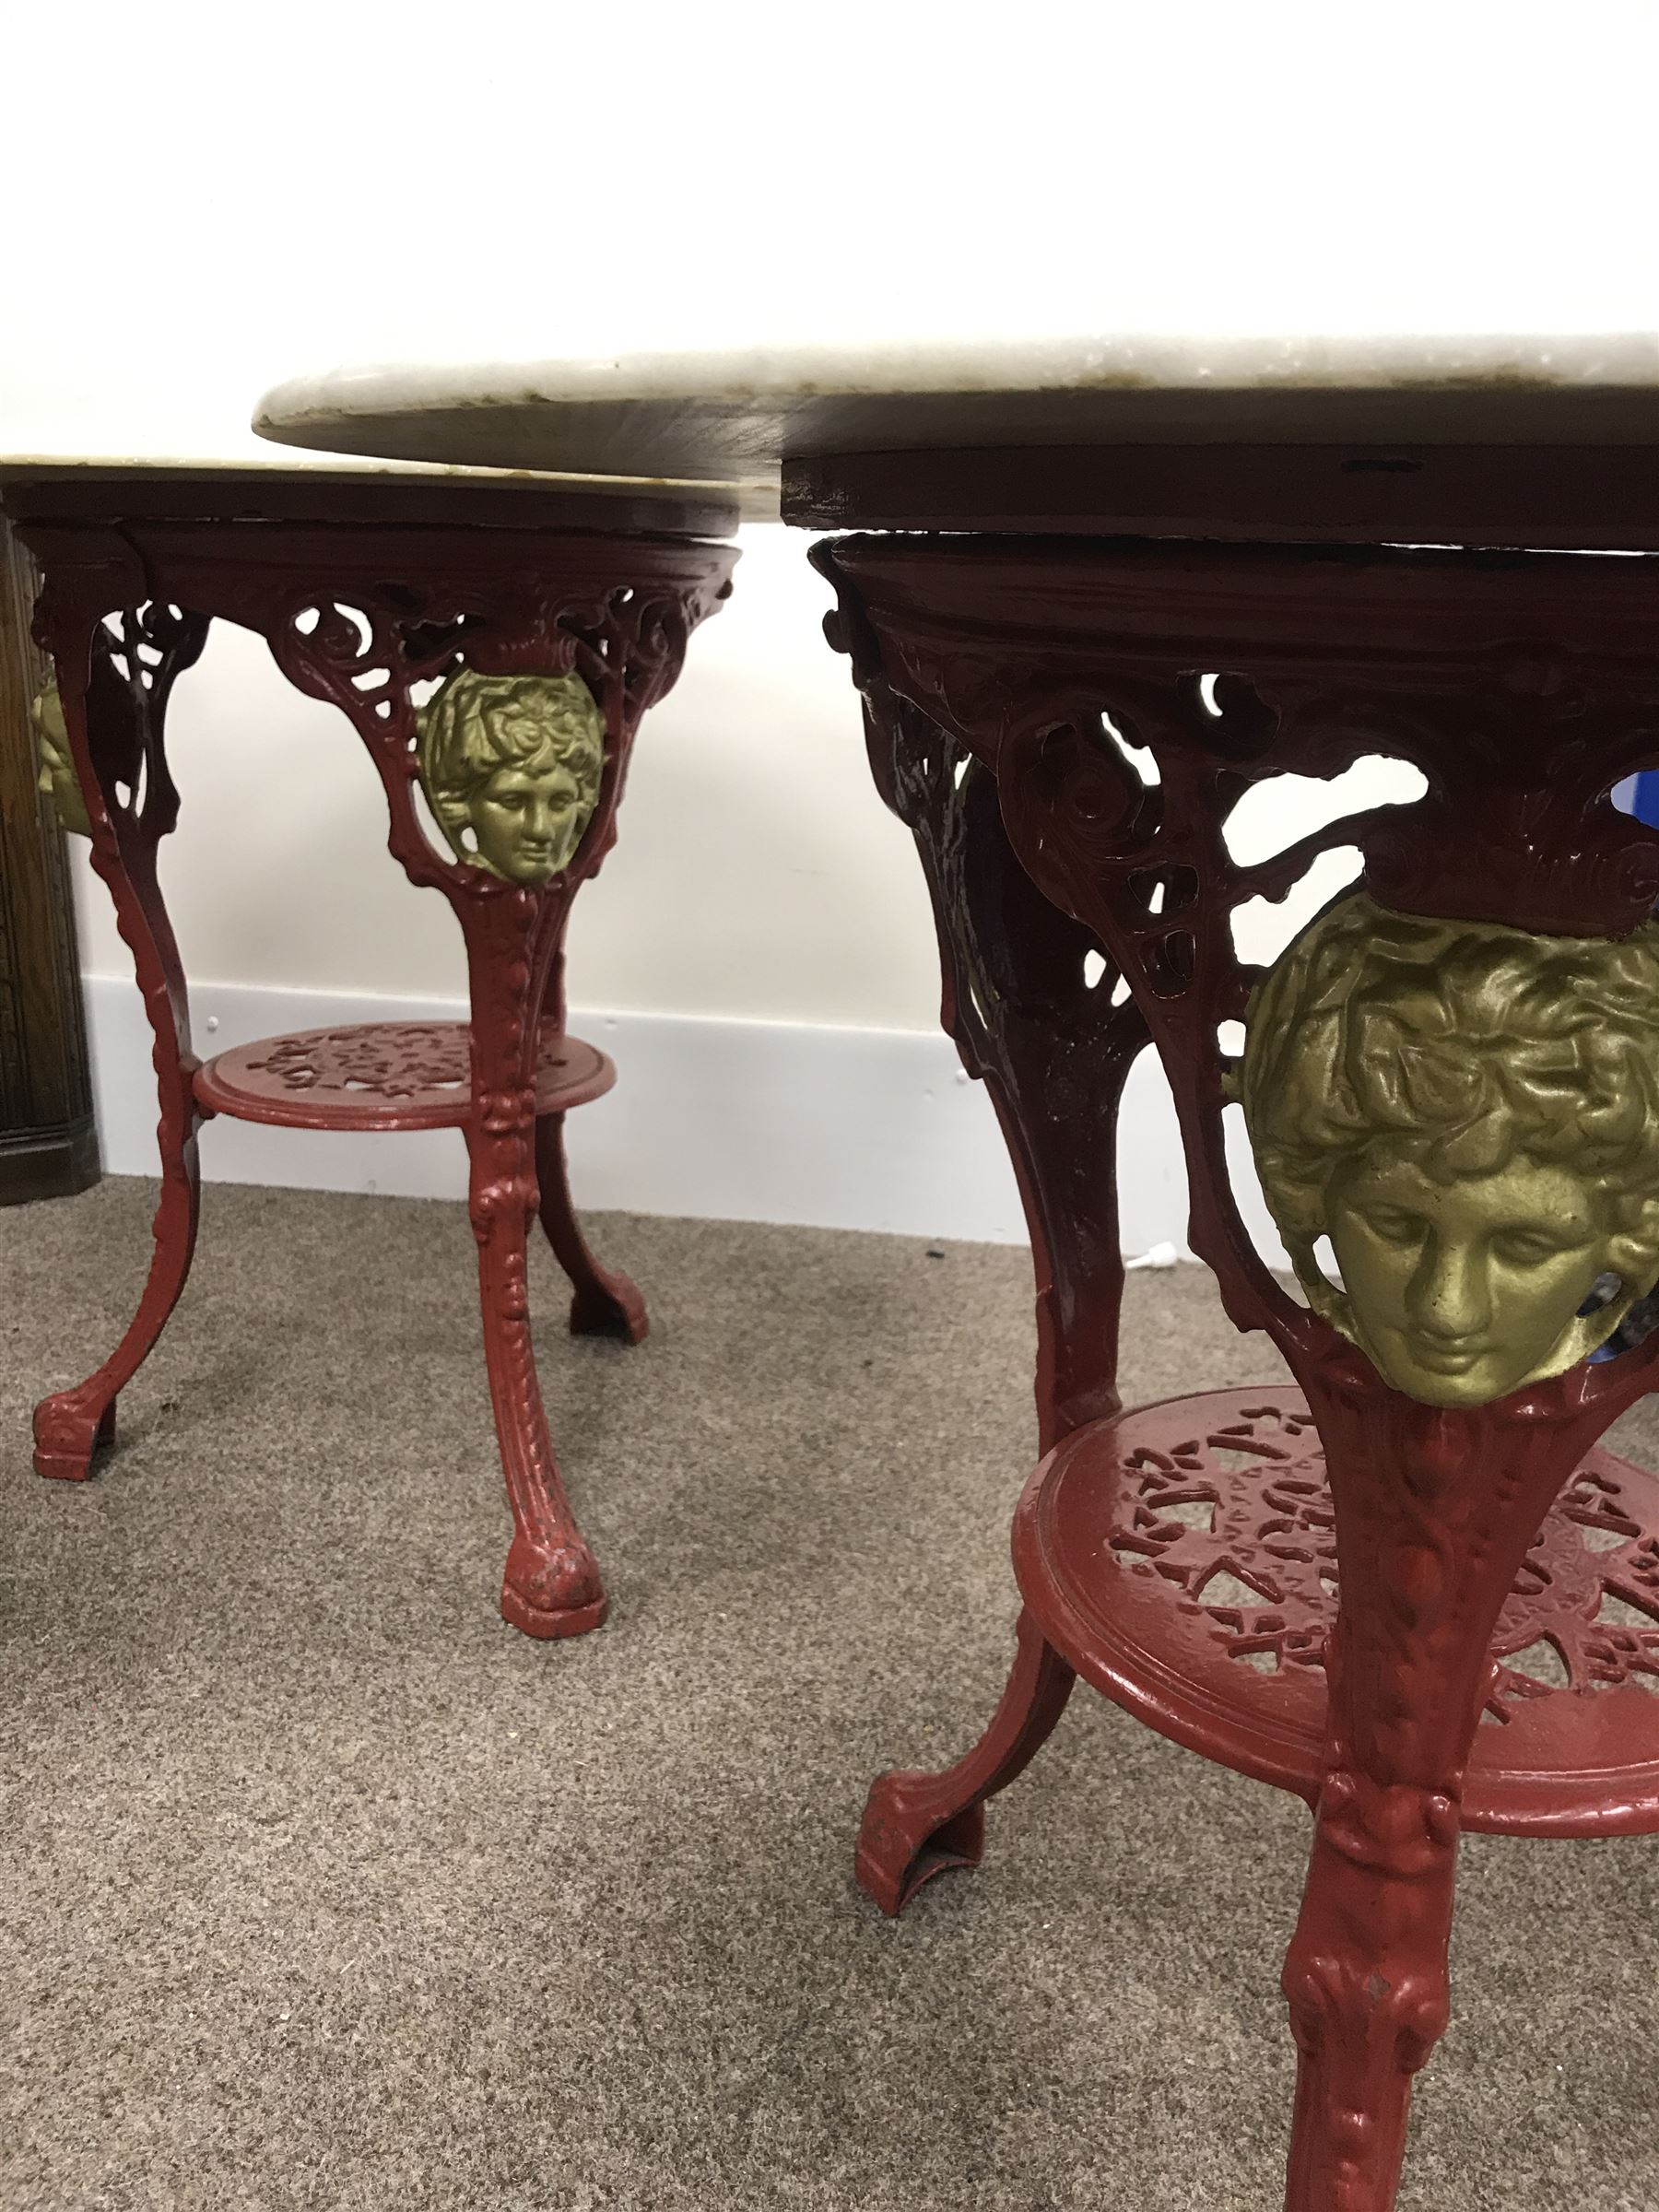
[[[456,858],[535,887],[571,865],[593,818],[604,714],[577,675],[460,668],[418,714],[416,763]]]

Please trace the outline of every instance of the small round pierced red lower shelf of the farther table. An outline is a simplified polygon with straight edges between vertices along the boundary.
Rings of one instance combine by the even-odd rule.
[[[283,1128],[460,1128],[471,1104],[465,1022],[358,1022],[237,1044],[197,1068],[197,1104]],[[580,1037],[542,1031],[535,1110],[602,1097],[613,1062]]]

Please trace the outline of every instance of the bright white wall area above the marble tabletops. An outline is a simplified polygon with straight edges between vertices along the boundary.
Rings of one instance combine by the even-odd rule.
[[[1657,64],[1646,0],[13,7],[0,440],[234,453],[332,361],[1655,327]]]

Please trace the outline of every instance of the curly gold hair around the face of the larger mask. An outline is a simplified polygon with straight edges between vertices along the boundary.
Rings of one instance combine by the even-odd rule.
[[[1626,1296],[1573,1336],[1577,1358],[1659,1272],[1659,925],[1544,938],[1347,894],[1256,987],[1239,1099],[1310,1303],[1349,1336],[1314,1245],[1360,1157],[1438,1188],[1517,1157],[1590,1186]]]

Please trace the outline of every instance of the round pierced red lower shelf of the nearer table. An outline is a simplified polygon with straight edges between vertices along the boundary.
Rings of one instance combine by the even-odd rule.
[[[1223,1765],[1312,1796],[1336,1535],[1296,1391],[1170,1398],[1064,1440],[1013,1528],[1051,1644],[1119,1705]],[[1593,1451],[1493,1637],[1464,1827],[1659,1829],[1659,1482]]]

